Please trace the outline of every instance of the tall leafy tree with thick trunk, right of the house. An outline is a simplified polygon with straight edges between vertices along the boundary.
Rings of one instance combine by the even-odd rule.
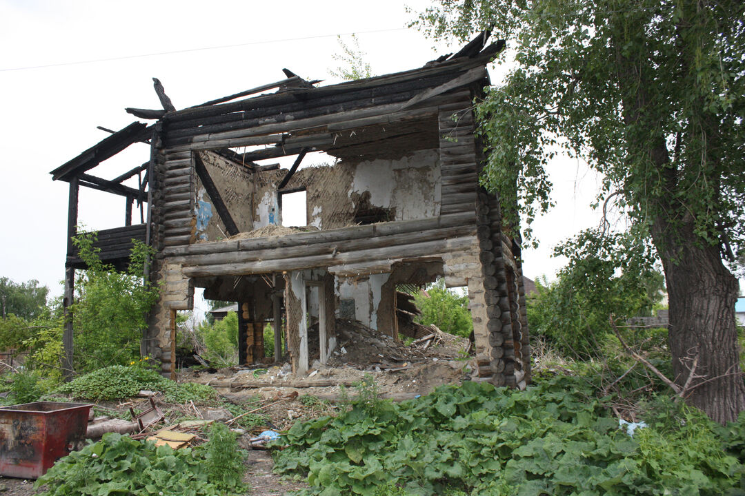
[[[507,39],[516,66],[476,106],[484,185],[508,222],[530,224],[551,207],[546,167],[561,149],[603,174],[599,200],[651,236],[665,268],[675,380],[692,376],[688,399],[720,422],[745,409],[737,282],[722,263],[745,245],[744,12],[732,0],[440,0],[415,22]]]

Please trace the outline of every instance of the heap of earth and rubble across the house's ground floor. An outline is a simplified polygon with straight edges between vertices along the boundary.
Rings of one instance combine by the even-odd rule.
[[[342,388],[353,387],[366,375],[373,377],[382,397],[391,399],[408,399],[442,384],[472,379],[476,364],[469,355],[472,346],[466,338],[435,326],[419,326],[420,337],[406,345],[356,321],[337,319],[336,325],[339,346],[326,365],[318,361],[317,347],[311,347],[313,360],[306,373],[291,373],[291,366],[285,361],[270,366],[184,370],[180,380],[209,384],[223,396],[236,400],[297,391],[300,395],[336,401],[344,394]],[[311,343],[317,332],[317,327],[308,329]],[[354,391],[349,393],[353,395]]]

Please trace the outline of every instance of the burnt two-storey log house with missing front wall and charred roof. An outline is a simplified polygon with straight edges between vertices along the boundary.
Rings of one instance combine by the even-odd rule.
[[[444,277],[467,288],[478,376],[523,387],[530,353],[519,240],[478,182],[484,149],[472,102],[504,48],[487,38],[421,68],[332,86],[285,70],[278,83],[181,110],[156,80],[164,110],[128,109],[155,123],[132,123],[54,170],[70,184],[70,235],[77,188],[93,187],[124,196],[129,212],[124,227],[98,233],[104,260],[126,265],[132,238],[156,249],[147,275],[162,293],[142,352],[164,373],[174,369],[176,312],[203,288],[208,299],[238,302],[241,363],[264,357],[267,321],[284,322],[302,373],[340,346],[337,318],[399,338],[397,286]],[[150,143],[147,164],[111,181],[89,174],[137,141]],[[299,167],[313,152],[327,163]],[[292,166],[267,165],[282,157],[294,157]],[[121,185],[133,175],[139,189]],[[298,192],[305,226],[279,228],[283,200]],[[148,206],[138,225],[133,202]],[[70,243],[66,266],[69,302],[83,266]],[[72,329],[66,344],[72,352]]]

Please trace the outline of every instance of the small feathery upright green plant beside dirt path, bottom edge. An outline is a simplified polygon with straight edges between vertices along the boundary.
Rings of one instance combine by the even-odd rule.
[[[230,489],[242,489],[243,451],[238,449],[237,434],[220,422],[209,429],[209,441],[203,445],[209,480]]]

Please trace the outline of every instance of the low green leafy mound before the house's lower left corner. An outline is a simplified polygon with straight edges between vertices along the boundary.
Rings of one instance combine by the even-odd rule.
[[[165,400],[185,403],[203,402],[217,396],[212,387],[191,382],[177,383],[165,379],[155,370],[138,365],[112,365],[95,370],[57,387],[55,393],[94,401],[137,396],[140,390],[160,391]]]

